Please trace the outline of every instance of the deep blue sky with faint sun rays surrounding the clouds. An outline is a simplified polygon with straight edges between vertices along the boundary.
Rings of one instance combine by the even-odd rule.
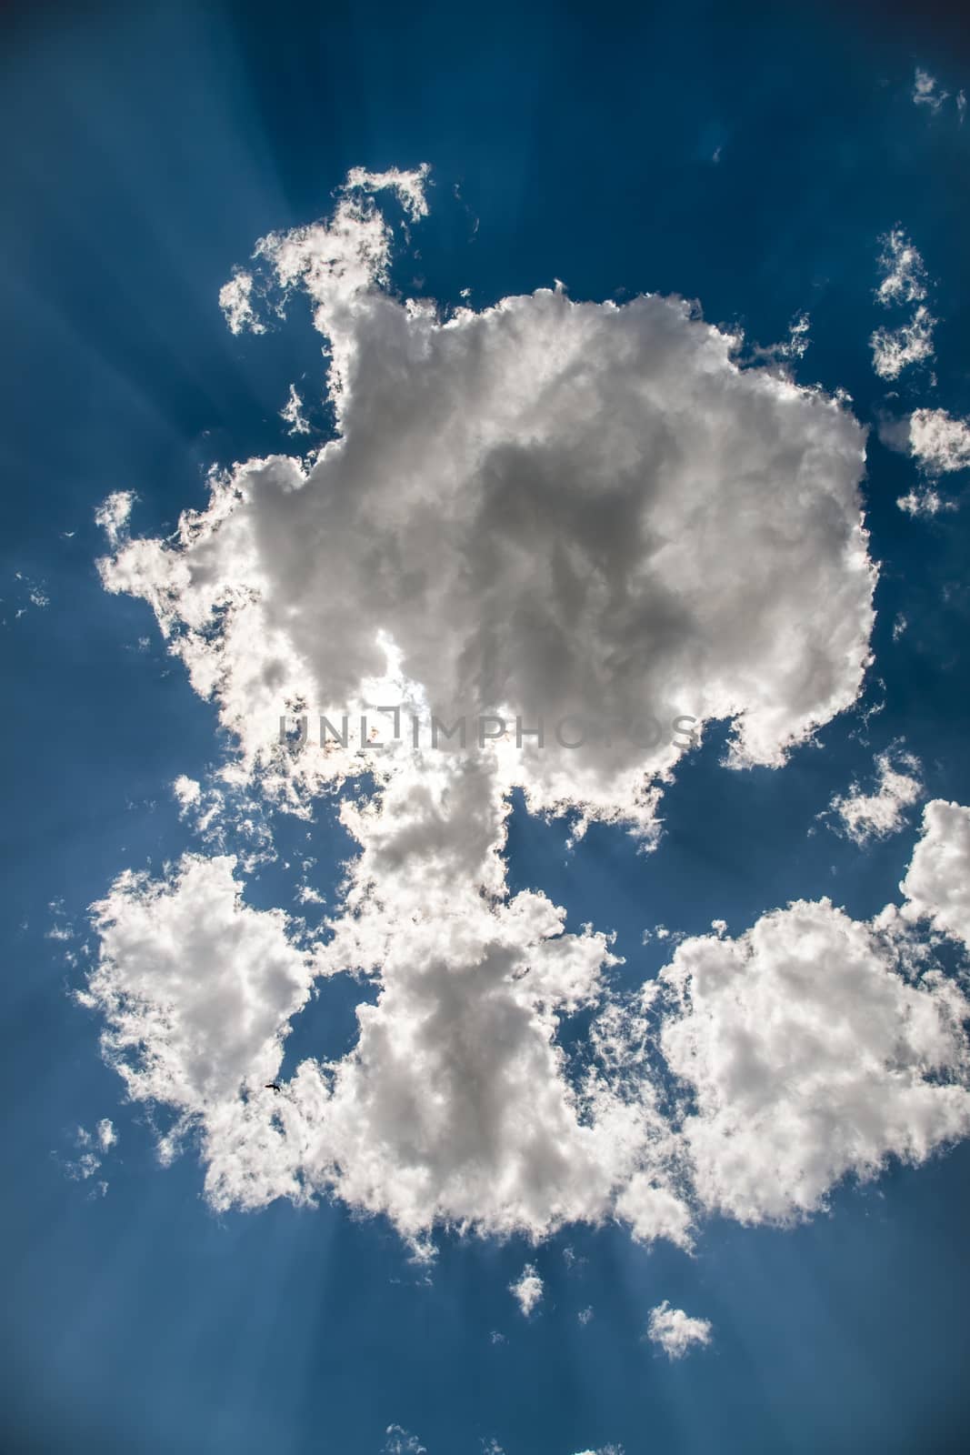
[[[861,6],[15,13],[0,100],[3,1115],[15,1189],[4,1448],[966,1448],[970,1161],[958,1138],[941,1138],[922,1165],[887,1152],[864,1186],[852,1171],[835,1177],[826,1205],[791,1225],[745,1225],[710,1206],[689,1250],[638,1241],[614,1213],[566,1218],[541,1237],[524,1222],[508,1235],[438,1222],[425,1264],[401,1234],[397,1184],[380,1189],[375,1216],[323,1183],[316,1206],[273,1193],[214,1208],[199,1131],[208,1103],[127,1096],[99,1048],[106,1004],[86,1008],[76,992],[105,953],[89,906],[125,870],[160,880],[185,853],[237,853],[244,902],[304,917],[300,946],[317,931],[326,941],[324,921],[340,911],[342,866],[359,844],[333,796],[311,792],[300,818],[259,780],[227,790],[218,844],[180,816],[175,780],[209,792],[234,736],[166,652],[148,601],[105,589],[96,560],[109,543],[95,512],[132,492],[131,537],[169,537],[183,511],[207,509],[211,466],[297,453],[333,429],[307,300],[292,298],[285,324],[268,313],[265,333],[234,335],[218,295],[257,239],[332,214],[356,166],[430,164],[429,215],[407,231],[400,199],[377,194],[396,228],[388,295],[480,311],[563,279],[576,303],[697,298],[710,324],[743,330],[746,367],[846,391],[868,429],[859,489],[880,575],[858,690],[784,767],[726,768],[729,723],[711,722],[665,790],[652,853],[622,822],[592,822],[569,847],[579,792],[569,812],[529,813],[516,783],[509,895],[547,895],[580,949],[585,924],[615,933],[622,963],[606,981],[622,1005],[670,965],[679,938],[710,937],[716,920],[727,944],[793,899],[829,896],[859,924],[903,902],[900,880],[928,841],[922,806],[970,803],[966,473],[934,483],[886,429],[921,409],[970,413],[970,127],[957,103],[969,61],[957,19],[934,6],[889,17]],[[913,99],[918,68],[935,79],[931,102]],[[923,260],[937,324],[932,358],[887,380],[870,338],[912,313],[874,298],[893,228]],[[803,356],[750,352],[785,340],[801,313]],[[279,418],[291,383],[308,439]],[[375,438],[390,418],[382,404]],[[689,435],[689,420],[678,429]],[[899,508],[931,489],[963,508]],[[793,537],[811,528],[793,521]],[[285,579],[298,543],[281,541]],[[758,576],[769,549],[724,540],[737,581]],[[333,572],[342,554],[327,557]],[[819,579],[835,599],[843,581],[832,570]],[[791,610],[811,621],[819,602],[806,595],[801,610],[795,592]],[[737,626],[755,642],[753,617]],[[825,656],[836,627],[833,615],[813,652]],[[838,813],[819,815],[854,781],[873,793],[887,751],[918,760],[916,797],[891,832],[855,842],[836,832]],[[265,825],[275,857],[243,863],[254,844],[246,816]],[[969,867],[955,866],[957,899]],[[307,885],[320,901],[300,898]],[[937,936],[937,963],[957,986],[964,952],[934,912],[919,943]],[[380,984],[320,979],[285,1040],[286,1087],[307,1058],[352,1055],[355,1007],[375,1004]],[[596,1013],[590,1004],[561,1029],[580,1062]],[[950,1071],[954,1084],[966,1075]],[[179,1107],[195,1122],[163,1167],[157,1141]],[[105,1119],[116,1141],[102,1149]],[[90,1176],[86,1152],[100,1164]],[[528,1317],[509,1291],[526,1264],[542,1280]],[[665,1301],[710,1321],[708,1342],[685,1358],[647,1337]]]

